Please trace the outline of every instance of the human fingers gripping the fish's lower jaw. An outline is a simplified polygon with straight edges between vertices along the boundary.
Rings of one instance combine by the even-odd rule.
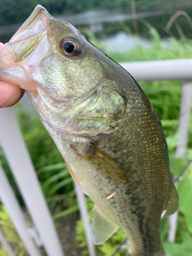
[[[4,44],[0,42],[0,51],[4,48]],[[9,82],[0,81],[0,108],[7,108],[19,101],[25,91],[19,86]]]

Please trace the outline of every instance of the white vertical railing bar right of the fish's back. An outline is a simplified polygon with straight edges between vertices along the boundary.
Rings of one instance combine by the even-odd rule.
[[[186,152],[187,135],[190,118],[190,107],[192,102],[192,81],[183,81],[179,118],[179,139],[176,148],[176,157],[183,158]],[[175,184],[177,186],[177,183]],[[177,231],[178,211],[169,217],[168,241],[175,242]]]

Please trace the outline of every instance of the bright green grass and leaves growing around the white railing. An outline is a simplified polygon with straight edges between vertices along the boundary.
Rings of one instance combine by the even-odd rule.
[[[147,25],[150,26],[150,25]],[[90,31],[84,30],[84,33],[99,47],[98,40]],[[186,38],[176,40],[169,38],[170,44],[163,47],[160,42],[160,37],[157,31],[150,26],[149,33],[151,35],[152,47],[144,49],[137,45],[134,50],[126,53],[110,54],[117,62],[122,61],[137,61],[137,60],[155,60],[155,59],[176,59],[190,58],[192,56],[192,42]],[[155,111],[164,127],[166,136],[170,170],[173,176],[179,174],[181,169],[186,165],[189,159],[192,158],[192,118],[190,118],[190,131],[187,145],[186,157],[184,159],[175,158],[175,150],[178,139],[178,118],[181,98],[181,81],[179,80],[163,80],[140,82],[141,87],[150,98]],[[63,216],[77,212],[78,205],[75,199],[72,179],[67,171],[67,167],[60,156],[51,137],[42,126],[39,117],[35,111],[25,112],[23,106],[18,103],[15,106],[17,110],[17,118],[23,132],[23,136],[27,143],[32,161],[34,163],[42,190],[49,204],[49,207],[54,212],[53,219],[56,220]],[[16,191],[17,198],[23,206],[22,199],[16,189],[12,179],[10,170],[6,163],[3,152],[0,151],[0,159],[3,164],[6,174]],[[167,242],[168,220],[162,220],[161,238],[164,249],[172,256],[191,256],[192,255],[192,166],[190,165],[182,180],[178,182],[178,194],[180,197],[180,210],[178,219],[178,228],[176,242],[170,244]],[[88,207],[90,210],[90,218],[93,214],[91,211],[93,203],[87,198]],[[1,212],[1,211],[0,211]],[[4,211],[3,211],[4,212]],[[0,216],[1,221],[2,216]],[[6,222],[0,222],[1,227],[5,227]],[[12,229],[9,229],[10,232]],[[82,255],[87,255],[86,239],[83,233],[82,222],[79,220],[76,223],[76,240],[82,251]],[[6,237],[12,242],[8,234]],[[118,230],[112,238],[103,245],[97,247],[99,256],[111,256],[113,251],[124,240],[124,234]],[[20,243],[18,242],[18,245]],[[1,248],[1,250],[3,250]],[[0,251],[1,252],[1,251]],[[0,253],[1,254],[1,253]],[[1,254],[4,255],[4,254]],[[5,254],[6,255],[6,254]],[[19,254],[18,254],[19,255]],[[21,254],[22,255],[22,254]],[[125,250],[118,252],[117,256],[125,255]]]

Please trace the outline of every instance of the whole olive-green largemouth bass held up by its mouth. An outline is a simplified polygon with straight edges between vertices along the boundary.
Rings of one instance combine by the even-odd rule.
[[[163,256],[160,222],[178,196],[161,122],[134,78],[38,5],[1,52],[0,79],[27,91],[95,203],[94,243],[121,228],[131,256]]]

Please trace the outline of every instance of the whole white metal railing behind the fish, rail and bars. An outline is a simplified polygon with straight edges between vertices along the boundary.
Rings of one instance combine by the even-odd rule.
[[[190,105],[192,101],[192,59],[161,60],[121,63],[132,76],[140,80],[181,79],[182,99],[179,120],[179,141],[177,157],[184,157],[187,143]],[[10,169],[29,210],[31,219],[37,229],[38,243],[34,243],[28,232],[27,224],[22,209],[14,196],[9,181],[0,165],[0,198],[7,208],[20,239],[23,241],[30,256],[40,256],[39,245],[43,245],[48,256],[64,256],[58,235],[54,228],[51,215],[42,195],[27,147],[20,133],[14,112],[11,108],[0,110],[0,145],[2,146],[9,163]],[[90,236],[88,210],[84,194],[75,186],[80,215],[85,227],[87,244],[90,256],[96,256],[95,247]],[[177,226],[177,213],[170,217],[168,240],[175,240]],[[0,230],[0,241],[7,249],[10,256],[14,256],[4,234]]]

